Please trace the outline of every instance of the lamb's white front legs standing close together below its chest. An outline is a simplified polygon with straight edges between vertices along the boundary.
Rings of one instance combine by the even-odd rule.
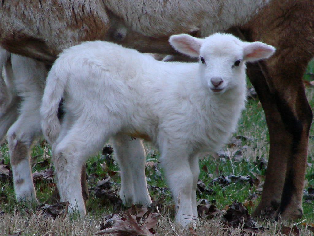
[[[161,150],[161,165],[176,205],[176,222],[183,226],[197,224],[198,220],[195,174],[192,173],[187,153],[186,149],[170,144]],[[195,170],[195,161],[191,163]]]

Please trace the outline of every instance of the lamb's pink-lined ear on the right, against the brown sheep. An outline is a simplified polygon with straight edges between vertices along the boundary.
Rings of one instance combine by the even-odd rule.
[[[254,62],[269,58],[276,49],[263,42],[244,42],[244,60]]]

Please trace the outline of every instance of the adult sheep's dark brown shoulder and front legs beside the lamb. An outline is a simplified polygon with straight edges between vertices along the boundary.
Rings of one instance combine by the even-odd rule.
[[[269,131],[269,162],[262,199],[254,212],[269,207],[277,216],[302,215],[303,182],[312,111],[302,81],[314,56],[314,2],[273,0],[242,28],[249,41],[262,41],[277,51],[260,70],[248,70],[261,99]],[[255,77],[256,76],[256,77]]]

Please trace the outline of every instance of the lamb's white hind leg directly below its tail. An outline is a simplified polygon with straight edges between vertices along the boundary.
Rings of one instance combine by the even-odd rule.
[[[52,147],[52,160],[57,174],[57,188],[61,201],[69,201],[68,213],[78,212],[85,216],[82,196],[81,169],[85,160],[100,150],[106,140],[106,132],[100,130],[102,124],[93,127],[84,125],[89,121],[78,120],[67,134],[57,139]],[[64,127],[68,129],[68,127]]]

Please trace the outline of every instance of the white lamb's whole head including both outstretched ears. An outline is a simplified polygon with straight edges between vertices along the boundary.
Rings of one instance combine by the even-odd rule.
[[[262,42],[242,42],[230,34],[216,33],[200,39],[173,35],[170,44],[177,51],[199,58],[199,78],[210,93],[245,87],[245,62],[270,57],[275,48]]]

